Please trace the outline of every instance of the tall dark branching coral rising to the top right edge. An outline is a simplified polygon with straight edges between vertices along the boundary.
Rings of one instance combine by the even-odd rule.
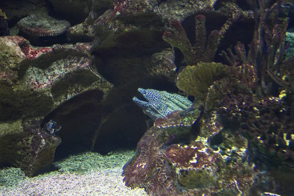
[[[246,56],[245,47],[241,43],[237,43],[235,47],[237,56],[234,56],[231,50],[228,50],[227,54],[222,51],[222,54],[231,65],[248,63],[253,66],[254,74],[259,78],[256,86],[257,95],[270,96],[274,93],[274,81],[291,88],[291,84],[283,82],[278,75],[294,62],[294,58],[291,57],[285,61],[284,55],[286,29],[289,23],[287,7],[293,3],[285,0],[277,0],[274,3],[270,3],[269,0],[247,2],[252,7],[255,18],[253,41],[249,45],[248,55]]]

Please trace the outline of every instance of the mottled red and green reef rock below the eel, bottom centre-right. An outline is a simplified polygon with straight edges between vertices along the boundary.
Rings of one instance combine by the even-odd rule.
[[[137,154],[123,168],[126,186],[144,187],[148,194],[158,196],[249,195],[255,172],[246,161],[244,137],[226,130],[209,138],[198,136],[187,145],[173,144],[183,135],[187,139],[200,114],[201,110],[195,108],[186,111],[186,117],[175,111],[158,119],[166,126],[148,129],[138,143]],[[184,120],[187,117],[194,121],[188,123]],[[177,124],[180,121],[186,126]]]

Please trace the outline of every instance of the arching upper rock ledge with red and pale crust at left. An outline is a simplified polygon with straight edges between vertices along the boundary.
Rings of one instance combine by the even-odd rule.
[[[91,44],[34,48],[18,36],[1,41],[0,121],[46,116],[74,96],[112,88],[91,63]]]

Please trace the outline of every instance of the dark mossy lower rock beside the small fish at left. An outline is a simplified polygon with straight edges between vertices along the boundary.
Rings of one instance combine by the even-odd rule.
[[[58,136],[40,128],[42,119],[0,123],[0,163],[9,163],[33,176],[53,161]]]

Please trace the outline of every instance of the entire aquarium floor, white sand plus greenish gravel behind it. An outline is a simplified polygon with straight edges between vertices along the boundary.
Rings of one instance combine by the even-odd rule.
[[[123,182],[123,165],[134,155],[133,150],[105,156],[80,153],[54,162],[57,171],[35,177],[25,177],[17,168],[2,169],[0,196],[147,196],[144,189],[130,189]]]

